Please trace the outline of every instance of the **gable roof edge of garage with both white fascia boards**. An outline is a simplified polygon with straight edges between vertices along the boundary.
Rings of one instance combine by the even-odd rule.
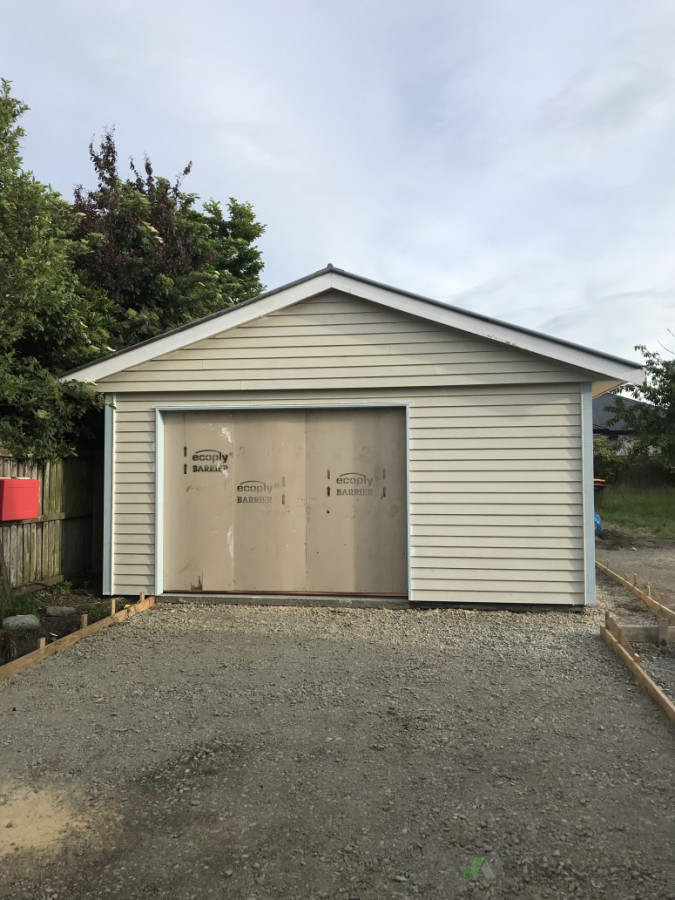
[[[130,369],[148,360],[180,350],[204,338],[244,325],[261,316],[269,315],[308,300],[329,290],[351,294],[381,306],[396,309],[427,321],[467,334],[506,344],[530,353],[536,353],[564,365],[597,373],[603,377],[596,381],[594,394],[611,390],[625,382],[641,382],[642,367],[639,363],[599,353],[578,344],[541,334],[519,325],[509,325],[490,316],[467,312],[457,306],[393,288],[368,278],[362,278],[332,265],[311,275],[245,300],[236,306],[212,313],[173,331],[118,350],[102,359],[86,363],[61,376],[61,380],[100,381],[110,375]]]

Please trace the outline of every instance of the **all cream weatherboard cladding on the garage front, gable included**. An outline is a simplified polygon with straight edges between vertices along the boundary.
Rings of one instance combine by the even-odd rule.
[[[155,407],[409,405],[417,601],[584,602],[577,370],[327,294],[101,381],[116,394],[112,590],[154,585]]]

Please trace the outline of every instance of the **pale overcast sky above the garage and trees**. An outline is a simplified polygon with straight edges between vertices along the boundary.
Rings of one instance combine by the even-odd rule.
[[[331,262],[629,359],[675,330],[673,0],[3,0],[26,165],[88,144]]]

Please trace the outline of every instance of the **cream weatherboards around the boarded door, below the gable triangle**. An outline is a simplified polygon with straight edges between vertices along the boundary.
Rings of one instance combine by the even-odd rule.
[[[157,405],[409,404],[413,599],[582,603],[579,387],[346,387],[116,398],[113,590],[154,588]],[[458,437],[461,435],[461,437]]]

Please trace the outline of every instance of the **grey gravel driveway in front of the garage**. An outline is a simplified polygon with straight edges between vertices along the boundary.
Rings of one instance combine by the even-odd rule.
[[[155,607],[0,684],[0,896],[675,898],[601,619]]]

